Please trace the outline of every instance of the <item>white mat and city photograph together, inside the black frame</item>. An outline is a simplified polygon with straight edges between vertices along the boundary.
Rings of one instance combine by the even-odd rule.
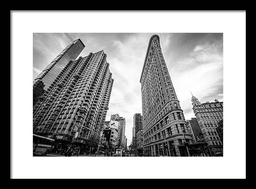
[[[245,178],[245,11],[228,14],[11,11],[11,178]]]

